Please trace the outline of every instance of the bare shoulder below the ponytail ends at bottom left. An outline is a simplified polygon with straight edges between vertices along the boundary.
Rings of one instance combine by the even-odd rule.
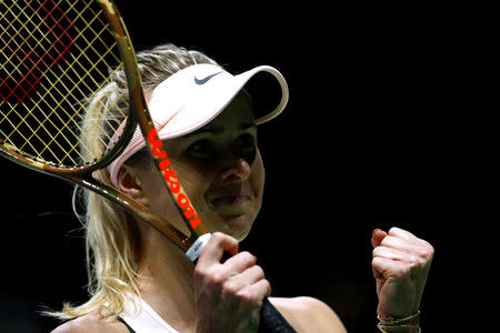
[[[129,330],[117,320],[106,321],[98,315],[88,314],[58,326],[51,333],[128,333]]]

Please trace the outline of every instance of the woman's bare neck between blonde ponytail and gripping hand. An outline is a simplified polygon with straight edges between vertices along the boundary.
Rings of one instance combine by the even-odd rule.
[[[141,297],[176,330],[191,331],[196,323],[194,265],[157,231],[148,233],[142,244]]]

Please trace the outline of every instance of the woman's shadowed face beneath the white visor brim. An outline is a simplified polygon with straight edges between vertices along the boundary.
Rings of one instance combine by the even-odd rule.
[[[250,99],[238,94],[209,124],[168,140],[164,145],[180,183],[209,231],[243,239],[260,210],[264,183]],[[136,172],[150,209],[187,230],[152,162],[141,164],[146,168],[137,168]]]

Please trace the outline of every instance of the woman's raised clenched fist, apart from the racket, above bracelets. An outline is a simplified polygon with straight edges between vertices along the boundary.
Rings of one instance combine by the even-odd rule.
[[[381,316],[407,317],[420,309],[434,249],[399,228],[377,229],[371,238],[372,269]]]

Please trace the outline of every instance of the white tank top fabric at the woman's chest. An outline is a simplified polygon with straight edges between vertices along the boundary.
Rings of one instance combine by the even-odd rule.
[[[120,317],[132,327],[136,333],[179,333],[173,330],[148,303],[139,300],[139,309],[136,309],[134,302],[127,299],[124,311]]]

